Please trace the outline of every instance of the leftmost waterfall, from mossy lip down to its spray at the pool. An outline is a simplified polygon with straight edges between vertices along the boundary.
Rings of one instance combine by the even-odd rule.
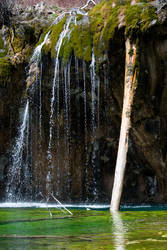
[[[41,51],[42,47],[46,43],[47,39],[49,37],[49,32],[46,34],[44,41],[37,46],[35,49],[29,64],[29,74],[27,77],[27,87],[30,87],[33,82],[31,82],[31,74],[32,69],[35,72],[36,81],[38,79],[38,64],[41,61]],[[42,69],[42,67],[41,67]],[[42,73],[41,73],[42,74]],[[31,83],[31,84],[30,84]],[[29,86],[28,86],[29,85]],[[32,86],[32,89],[34,89],[34,86]],[[33,90],[31,89],[31,92],[33,93]],[[40,134],[41,134],[41,75],[40,75],[40,93],[39,93],[39,99],[40,99]],[[30,113],[30,103],[27,99],[26,105],[23,112],[23,118],[21,121],[21,126],[18,128],[18,136],[15,139],[15,145],[11,152],[11,167],[8,171],[8,180],[7,180],[7,186],[6,186],[6,200],[7,201],[19,201],[24,200],[23,193],[27,194],[27,198],[30,198],[31,196],[31,163],[29,158],[32,158],[32,148],[30,143],[30,131],[31,131],[31,113]]]

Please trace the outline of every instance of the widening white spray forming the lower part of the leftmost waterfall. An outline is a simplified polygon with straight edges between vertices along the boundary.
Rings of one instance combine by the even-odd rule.
[[[27,178],[27,176],[25,176],[27,174],[27,166],[26,163],[24,162],[23,153],[25,147],[26,129],[28,138],[28,117],[29,117],[29,101],[27,100],[23,112],[21,125],[18,128],[18,136],[16,137],[16,141],[12,149],[12,164],[8,172],[8,183],[6,187],[7,201],[20,200],[21,198],[20,182],[24,180],[24,177]]]

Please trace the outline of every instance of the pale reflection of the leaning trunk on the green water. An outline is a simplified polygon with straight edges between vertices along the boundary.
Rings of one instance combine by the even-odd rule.
[[[119,212],[111,214],[113,220],[113,236],[116,250],[125,250],[125,228]]]

